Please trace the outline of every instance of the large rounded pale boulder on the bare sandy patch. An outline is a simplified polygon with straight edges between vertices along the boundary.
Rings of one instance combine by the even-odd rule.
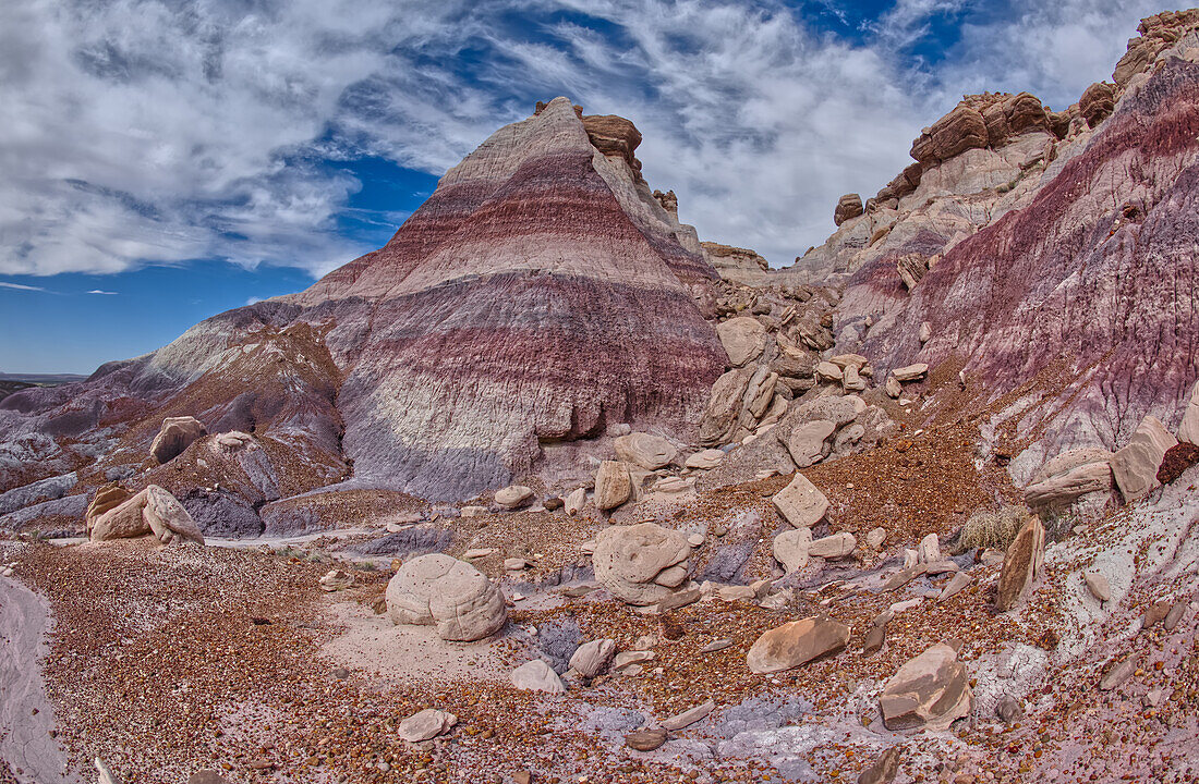
[[[466,561],[441,553],[400,566],[387,583],[386,601],[393,624],[435,626],[438,637],[447,640],[483,639],[508,616],[492,581]]]

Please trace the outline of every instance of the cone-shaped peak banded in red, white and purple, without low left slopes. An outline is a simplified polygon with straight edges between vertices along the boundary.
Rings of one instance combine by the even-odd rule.
[[[715,274],[670,221],[559,98],[451,169],[369,261],[297,296],[364,300],[338,400],[360,484],[465,498],[531,470],[540,443],[693,424],[724,357],[697,306]]]

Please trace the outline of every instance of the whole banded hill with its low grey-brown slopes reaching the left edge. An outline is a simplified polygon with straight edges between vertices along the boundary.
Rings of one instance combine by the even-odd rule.
[[[10,396],[0,492],[70,470],[137,487],[173,415],[253,436],[234,451],[210,438],[158,479],[185,499],[253,487],[247,519],[350,466],[355,487],[454,500],[610,424],[689,438],[725,363],[704,320],[717,275],[641,178],[639,139],[555,99],[451,169],[385,248],[308,291],[215,316],[83,385]],[[229,475],[217,452],[235,457]]]

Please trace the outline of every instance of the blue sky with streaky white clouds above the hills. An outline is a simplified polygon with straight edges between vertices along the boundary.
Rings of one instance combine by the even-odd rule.
[[[0,8],[0,371],[90,372],[386,242],[536,101],[632,118],[781,266],[965,92],[1065,107],[1150,2],[24,0]],[[109,293],[94,293],[109,292]]]

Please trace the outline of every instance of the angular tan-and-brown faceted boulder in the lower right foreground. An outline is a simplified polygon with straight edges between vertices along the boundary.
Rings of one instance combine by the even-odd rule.
[[[957,651],[938,643],[891,676],[879,698],[888,730],[947,729],[970,715],[970,676]]]

